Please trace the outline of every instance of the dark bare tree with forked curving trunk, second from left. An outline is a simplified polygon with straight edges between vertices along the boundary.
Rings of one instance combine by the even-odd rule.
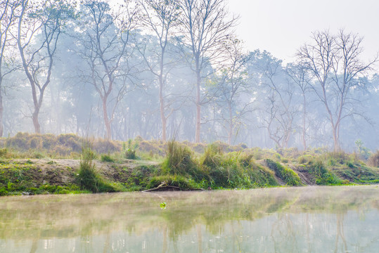
[[[34,131],[41,133],[39,111],[58,48],[58,39],[65,22],[74,15],[70,3],[46,0],[40,5],[29,0],[21,2],[18,14],[17,40],[23,70],[32,88]]]

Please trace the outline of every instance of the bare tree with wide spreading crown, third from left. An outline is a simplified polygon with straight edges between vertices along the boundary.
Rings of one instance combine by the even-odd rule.
[[[110,13],[105,1],[89,0],[83,3],[78,53],[88,67],[82,71],[84,82],[94,86],[101,98],[106,138],[112,138],[111,124],[120,100],[129,91],[131,67],[131,32],[136,22],[136,10],[131,1],[125,1],[120,11]],[[118,23],[117,23],[118,22]]]

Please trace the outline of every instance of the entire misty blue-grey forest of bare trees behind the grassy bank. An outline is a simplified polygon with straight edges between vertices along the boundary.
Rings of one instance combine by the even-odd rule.
[[[354,31],[287,63],[245,50],[226,0],[6,0],[0,22],[1,136],[378,149],[378,56]]]

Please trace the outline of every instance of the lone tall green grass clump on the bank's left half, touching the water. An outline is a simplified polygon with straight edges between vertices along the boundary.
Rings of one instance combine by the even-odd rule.
[[[77,179],[82,190],[90,190],[92,193],[112,193],[117,191],[110,183],[105,182],[95,169],[94,159],[96,153],[91,150],[87,142],[82,148]]]

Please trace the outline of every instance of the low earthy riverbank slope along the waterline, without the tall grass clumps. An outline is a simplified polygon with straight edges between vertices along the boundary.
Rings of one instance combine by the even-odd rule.
[[[254,161],[255,168],[249,179],[236,186],[226,176],[216,183],[193,176],[162,173],[159,162],[124,160],[121,163],[94,162],[98,176],[108,184],[105,192],[139,191],[159,185],[176,186],[181,190],[195,188],[262,188],[275,186],[315,186],[369,184],[379,182],[379,171],[372,167],[320,168],[315,164],[281,164],[272,160]],[[277,167],[281,167],[278,169]],[[70,159],[20,159],[0,162],[0,195],[91,193],[83,188],[79,179],[80,160]],[[210,171],[208,176],[220,171]],[[228,184],[229,180],[229,184]],[[226,183],[222,183],[225,181]],[[235,187],[236,186],[236,187]],[[250,186],[250,187],[246,187]]]

